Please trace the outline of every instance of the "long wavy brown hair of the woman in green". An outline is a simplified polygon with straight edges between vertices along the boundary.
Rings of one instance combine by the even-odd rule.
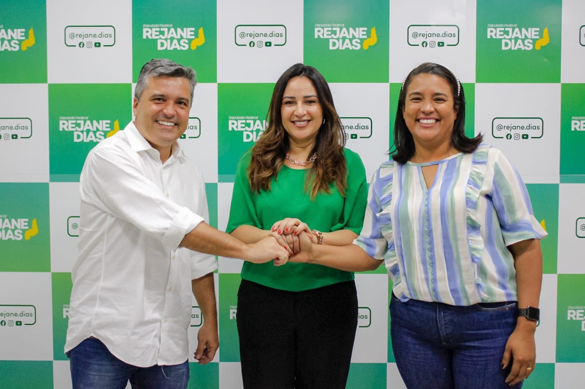
[[[317,153],[317,159],[311,169],[307,169],[305,191],[311,194],[311,199],[319,192],[330,193],[331,185],[335,184],[339,193],[345,196],[347,187],[346,161],[343,155],[345,146],[345,131],[339,115],[333,104],[331,89],[323,75],[314,67],[304,64],[295,64],[288,68],[278,78],[270,106],[266,115],[268,126],[252,148],[252,161],[247,170],[250,186],[254,193],[260,190],[270,190],[271,179],[277,178],[278,172],[284,165],[287,151],[290,147],[287,131],[283,127],[281,106],[283,105],[284,90],[288,81],[294,77],[307,77],[311,80],[321,104],[325,123],[319,128],[315,139],[312,155]]]

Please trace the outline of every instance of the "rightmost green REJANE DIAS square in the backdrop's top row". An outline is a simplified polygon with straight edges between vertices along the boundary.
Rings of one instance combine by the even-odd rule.
[[[560,82],[561,14],[561,0],[477,0],[476,82]]]

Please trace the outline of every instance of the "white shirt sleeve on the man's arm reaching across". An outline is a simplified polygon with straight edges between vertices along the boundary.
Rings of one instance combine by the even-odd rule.
[[[177,249],[185,234],[204,220],[168,199],[122,150],[90,152],[80,185],[82,200],[132,223],[170,250]]]

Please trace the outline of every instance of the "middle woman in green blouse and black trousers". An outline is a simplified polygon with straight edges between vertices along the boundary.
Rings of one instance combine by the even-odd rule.
[[[367,184],[324,77],[296,64],[278,79],[269,125],[243,154],[228,231],[247,243],[274,236],[289,253],[298,234],[347,245],[357,237]],[[310,227],[309,227],[310,226]],[[245,263],[238,335],[245,388],[345,388],[357,326],[352,272],[306,263]]]

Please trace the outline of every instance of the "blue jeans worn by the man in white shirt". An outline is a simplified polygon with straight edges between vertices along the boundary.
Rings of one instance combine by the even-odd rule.
[[[168,366],[133,366],[113,356],[96,338],[85,339],[67,356],[73,389],[124,389],[128,381],[133,389],[185,389],[189,381],[187,360]]]

